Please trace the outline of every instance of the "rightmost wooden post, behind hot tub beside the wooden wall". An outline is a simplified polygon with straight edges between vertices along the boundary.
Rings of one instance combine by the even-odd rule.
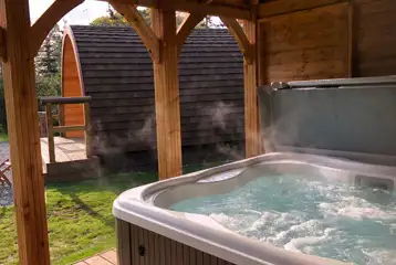
[[[263,151],[261,142],[260,114],[258,106],[258,53],[257,53],[257,22],[243,21],[243,31],[250,42],[251,57],[243,60],[244,80],[244,131],[246,156],[254,157]]]

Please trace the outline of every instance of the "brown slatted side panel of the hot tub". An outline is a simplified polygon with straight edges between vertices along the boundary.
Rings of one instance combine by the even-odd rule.
[[[119,244],[129,245],[129,250],[117,248],[118,258],[127,257],[118,259],[118,265],[232,265],[180,242],[117,220],[117,227],[121,225],[129,227],[129,237],[119,234],[118,230],[117,241]]]

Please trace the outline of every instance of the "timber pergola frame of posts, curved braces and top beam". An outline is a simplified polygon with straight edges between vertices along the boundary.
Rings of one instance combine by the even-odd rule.
[[[3,63],[8,131],[13,169],[20,264],[50,264],[44,180],[34,86],[34,56],[59,20],[84,0],[55,0],[31,25],[29,0],[0,0],[0,60]],[[257,98],[260,83],[258,21],[285,10],[303,10],[340,0],[108,0],[142,38],[154,64],[158,169],[161,179],[181,174],[178,55],[205,15],[218,15],[244,56],[246,153],[261,153]],[[152,28],[136,7],[152,9]],[[176,11],[188,12],[176,29]],[[243,26],[239,21],[243,21]]]

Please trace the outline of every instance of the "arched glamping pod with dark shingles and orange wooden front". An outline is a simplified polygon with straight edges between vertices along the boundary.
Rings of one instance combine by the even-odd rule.
[[[62,96],[92,97],[94,155],[118,169],[155,167],[153,64],[134,30],[69,26],[62,65]],[[227,29],[191,32],[181,50],[179,80],[184,162],[243,157],[243,56]],[[82,106],[63,110],[64,125],[83,124]]]

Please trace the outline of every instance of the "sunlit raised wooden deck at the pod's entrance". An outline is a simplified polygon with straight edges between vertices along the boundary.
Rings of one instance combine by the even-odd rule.
[[[55,137],[55,161],[50,162],[48,138],[41,138],[43,173],[48,181],[95,178],[100,173],[98,158],[87,158],[83,138]]]

